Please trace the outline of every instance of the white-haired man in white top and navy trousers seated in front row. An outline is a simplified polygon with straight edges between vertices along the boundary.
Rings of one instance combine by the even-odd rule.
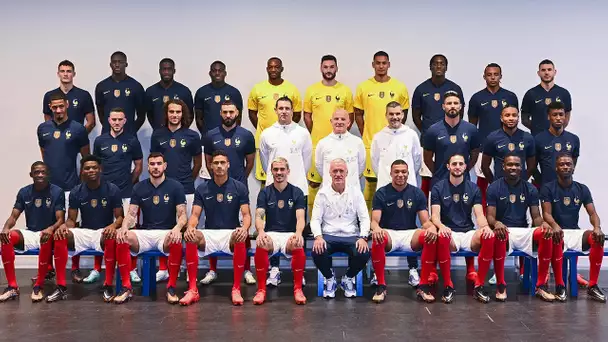
[[[331,161],[329,174],[331,186],[319,190],[312,209],[310,229],[315,237],[312,258],[326,280],[323,297],[334,298],[337,283],[331,255],[347,253],[348,269],[340,287],[345,297],[352,298],[357,296],[355,277],[369,260],[369,213],[361,190],[346,186],[348,167],[343,159]]]

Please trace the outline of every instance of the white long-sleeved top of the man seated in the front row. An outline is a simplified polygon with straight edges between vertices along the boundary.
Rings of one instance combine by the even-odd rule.
[[[314,237],[323,234],[367,237],[369,229],[367,205],[358,187],[346,187],[341,194],[331,185],[319,190],[310,219],[310,230]]]

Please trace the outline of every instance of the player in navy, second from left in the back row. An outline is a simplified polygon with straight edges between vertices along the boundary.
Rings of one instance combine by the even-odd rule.
[[[110,56],[112,75],[95,87],[95,105],[102,123],[102,133],[110,130],[108,117],[110,109],[120,107],[125,111],[127,124],[125,131],[137,134],[146,121],[146,93],[141,83],[126,74],[127,55],[116,51]]]

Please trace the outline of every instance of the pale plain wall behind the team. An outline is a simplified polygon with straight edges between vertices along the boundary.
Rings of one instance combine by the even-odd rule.
[[[583,4],[585,3],[585,4]],[[209,64],[223,60],[228,82],[246,98],[266,77],[268,57],[283,59],[284,77],[301,92],[320,79],[324,54],[338,58],[338,79],[353,91],[373,75],[372,55],[390,54],[390,74],[413,93],[429,76],[435,53],[449,59],[448,77],[465,98],[484,87],[483,68],[497,62],[503,86],[520,101],[538,83],[538,62],[552,59],[557,83],[572,93],[569,130],[581,137],[575,178],[589,185],[600,217],[608,217],[603,183],[607,162],[600,101],[607,90],[603,66],[608,51],[600,35],[608,32],[608,5],[600,1],[30,1],[0,5],[0,103],[5,133],[0,150],[0,212],[8,215],[17,190],[30,182],[29,165],[40,158],[36,127],[42,119],[42,95],[57,86],[57,63],[76,64],[76,84],[92,94],[110,74],[109,56],[128,55],[127,72],[144,87],[158,80],[158,61],[176,61],[176,79],[193,92],[209,81]],[[409,119],[411,124],[411,118]],[[251,129],[248,119],[243,125]],[[140,132],[145,140],[149,126]],[[99,132],[99,126],[96,134]],[[96,135],[91,135],[93,139]],[[255,182],[250,182],[255,184]],[[257,186],[251,186],[252,198]],[[582,215],[582,223],[587,218]],[[0,218],[3,219],[3,218]],[[20,221],[22,224],[23,221]]]

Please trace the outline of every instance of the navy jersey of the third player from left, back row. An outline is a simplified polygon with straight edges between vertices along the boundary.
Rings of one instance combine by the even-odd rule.
[[[185,85],[173,81],[169,88],[164,88],[157,82],[146,89],[146,110],[152,112],[152,129],[160,128],[165,124],[165,111],[163,107],[169,100],[182,100],[186,103],[188,110],[194,117],[194,103],[192,102],[192,92]]]

